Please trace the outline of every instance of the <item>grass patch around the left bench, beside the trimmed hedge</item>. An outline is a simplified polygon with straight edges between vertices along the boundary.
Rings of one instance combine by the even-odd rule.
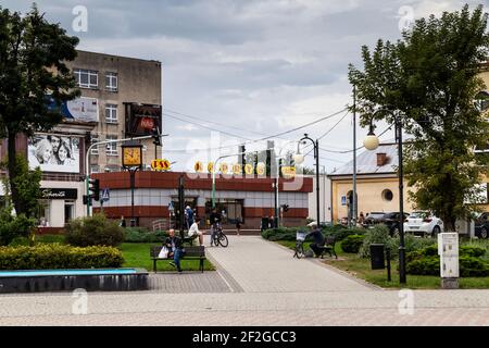
[[[124,268],[140,268],[148,271],[153,270],[153,262],[150,259],[149,250],[151,246],[155,246],[154,243],[123,243],[118,248],[122,250],[124,256]],[[175,268],[170,265],[168,261],[158,261],[158,271],[175,271]],[[199,271],[199,260],[181,260],[181,269],[184,271]],[[214,271],[214,265],[204,261],[205,271]]]

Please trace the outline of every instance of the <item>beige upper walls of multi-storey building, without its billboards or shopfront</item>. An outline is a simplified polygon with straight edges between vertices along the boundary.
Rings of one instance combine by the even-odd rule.
[[[96,103],[98,109],[98,115],[92,115],[93,119],[97,117],[90,133],[92,144],[150,134],[150,129],[137,129],[137,121],[131,120],[135,116],[134,110],[131,114],[133,105],[152,109],[150,113],[159,119],[153,125],[162,130],[161,62],[78,51],[78,57],[67,65],[82,90],[80,99]],[[139,142],[143,145],[142,161],[146,165],[161,156],[161,147],[156,147],[152,139]],[[91,150],[90,172],[117,172],[121,170],[121,144],[100,146]]]

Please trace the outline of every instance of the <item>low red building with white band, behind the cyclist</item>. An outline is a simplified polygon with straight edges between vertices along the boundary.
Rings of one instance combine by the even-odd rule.
[[[100,173],[93,177],[100,179],[100,188],[109,189],[109,201],[96,202],[95,212],[103,209],[111,219],[126,220],[135,217],[139,226],[153,227],[158,223],[163,228],[178,227],[179,201],[178,184],[183,176],[185,188],[185,207],[190,206],[203,217],[202,227],[212,211],[212,178],[209,174],[189,177],[178,172],[136,172],[134,190],[134,215],[131,204],[130,179],[127,172]],[[236,221],[241,221],[242,228],[258,229],[262,217],[274,215],[273,178],[266,177],[217,177],[215,181],[215,208],[223,214],[224,227],[235,228]],[[309,194],[312,179],[304,177],[300,187],[285,190],[285,179],[279,181],[279,204],[289,204],[284,212],[283,225],[299,226],[309,215]],[[103,206],[102,206],[103,204]],[[174,207],[173,214],[170,207]],[[209,223],[208,223],[209,226]]]

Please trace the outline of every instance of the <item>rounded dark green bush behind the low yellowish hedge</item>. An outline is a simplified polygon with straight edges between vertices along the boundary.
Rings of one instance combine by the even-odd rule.
[[[124,228],[103,214],[72,220],[65,231],[66,243],[77,247],[114,247],[124,240]]]

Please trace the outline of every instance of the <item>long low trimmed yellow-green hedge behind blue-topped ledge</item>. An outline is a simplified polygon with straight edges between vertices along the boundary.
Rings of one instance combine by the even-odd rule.
[[[0,247],[0,270],[120,268],[122,251],[113,247],[72,247],[41,244],[35,247]]]

